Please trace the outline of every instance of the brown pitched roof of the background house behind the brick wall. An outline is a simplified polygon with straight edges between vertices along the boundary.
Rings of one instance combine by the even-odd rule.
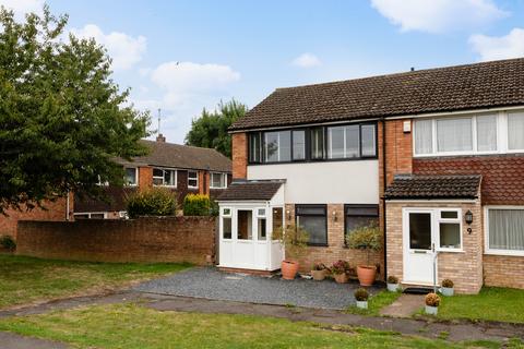
[[[183,169],[210,169],[230,172],[231,160],[215,149],[165,142],[141,141],[150,154],[134,158],[135,164]]]

